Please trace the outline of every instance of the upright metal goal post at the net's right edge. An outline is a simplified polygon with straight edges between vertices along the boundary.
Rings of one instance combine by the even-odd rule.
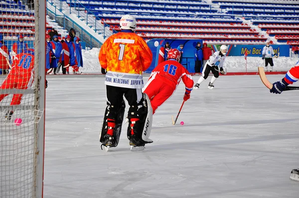
[[[35,181],[33,182],[33,198],[43,197],[43,177],[44,177],[44,134],[45,134],[45,36],[46,36],[46,1],[34,0],[34,29],[35,29],[35,62],[34,67],[38,67],[38,74],[35,75],[35,109],[43,109],[43,113],[35,125],[36,134],[36,151],[35,151]]]

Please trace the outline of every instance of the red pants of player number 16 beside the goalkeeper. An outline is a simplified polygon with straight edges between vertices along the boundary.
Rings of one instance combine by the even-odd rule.
[[[175,90],[171,86],[163,82],[163,78],[149,80],[144,88],[144,93],[149,96],[152,114],[154,114],[155,110],[163,104],[166,99],[172,96],[174,91]]]

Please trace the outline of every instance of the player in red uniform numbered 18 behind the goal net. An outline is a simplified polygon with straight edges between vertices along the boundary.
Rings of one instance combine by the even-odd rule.
[[[31,74],[33,73],[34,68],[34,52],[32,50],[25,50],[24,52],[16,55],[16,61],[13,62],[11,71],[7,75],[6,79],[3,81],[0,86],[1,89],[19,89],[25,90],[31,83],[33,79]],[[8,94],[1,94],[0,101]],[[22,94],[14,94],[10,105],[18,105],[21,103]],[[10,119],[12,111],[7,112],[6,118]]]

